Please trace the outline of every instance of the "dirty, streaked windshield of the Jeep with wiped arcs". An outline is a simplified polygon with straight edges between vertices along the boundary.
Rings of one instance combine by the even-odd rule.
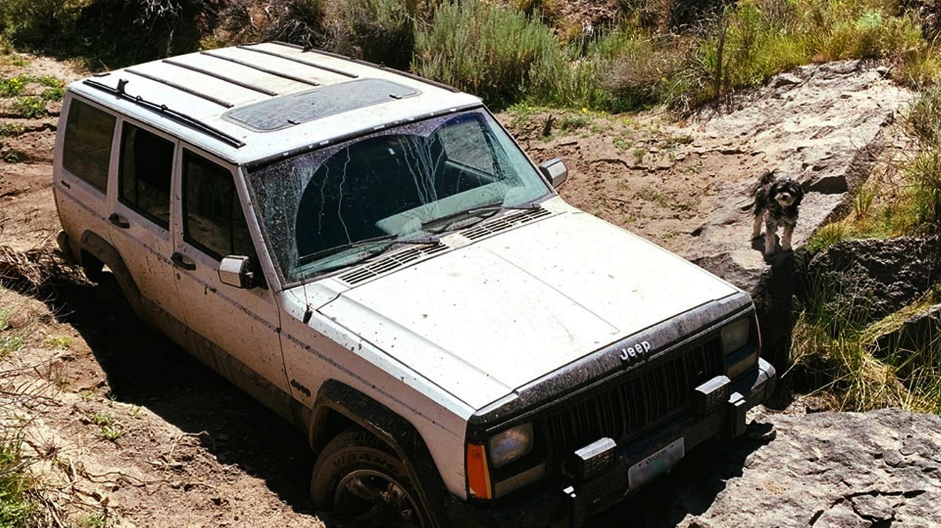
[[[428,235],[466,224],[461,211],[484,218],[474,209],[519,207],[550,193],[484,110],[375,132],[248,176],[286,284],[396,244],[427,241]]]

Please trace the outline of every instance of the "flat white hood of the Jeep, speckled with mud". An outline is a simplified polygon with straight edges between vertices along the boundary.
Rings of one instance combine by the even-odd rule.
[[[480,409],[737,291],[619,227],[566,212],[348,289],[319,311]]]

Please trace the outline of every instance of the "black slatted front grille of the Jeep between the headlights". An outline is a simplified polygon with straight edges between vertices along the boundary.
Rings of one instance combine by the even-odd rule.
[[[558,467],[573,451],[599,438],[618,444],[630,440],[688,409],[694,388],[721,375],[723,368],[722,345],[714,337],[672,351],[660,365],[550,412],[542,419],[549,459]]]

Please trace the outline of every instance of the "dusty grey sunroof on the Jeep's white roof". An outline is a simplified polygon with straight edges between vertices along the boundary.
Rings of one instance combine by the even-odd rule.
[[[358,79],[255,102],[232,109],[223,116],[252,130],[272,132],[418,94],[415,88],[391,81]]]

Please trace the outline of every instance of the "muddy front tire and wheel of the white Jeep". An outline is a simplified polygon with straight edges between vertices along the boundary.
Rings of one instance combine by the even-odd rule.
[[[428,526],[405,465],[386,443],[359,427],[327,443],[313,465],[311,499],[322,510],[364,524]]]

